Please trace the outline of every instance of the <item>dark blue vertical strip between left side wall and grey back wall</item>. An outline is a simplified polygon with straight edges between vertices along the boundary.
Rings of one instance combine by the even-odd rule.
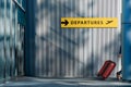
[[[25,29],[25,60],[24,71],[26,76],[35,75],[35,8],[36,0],[26,1],[26,29]]]

